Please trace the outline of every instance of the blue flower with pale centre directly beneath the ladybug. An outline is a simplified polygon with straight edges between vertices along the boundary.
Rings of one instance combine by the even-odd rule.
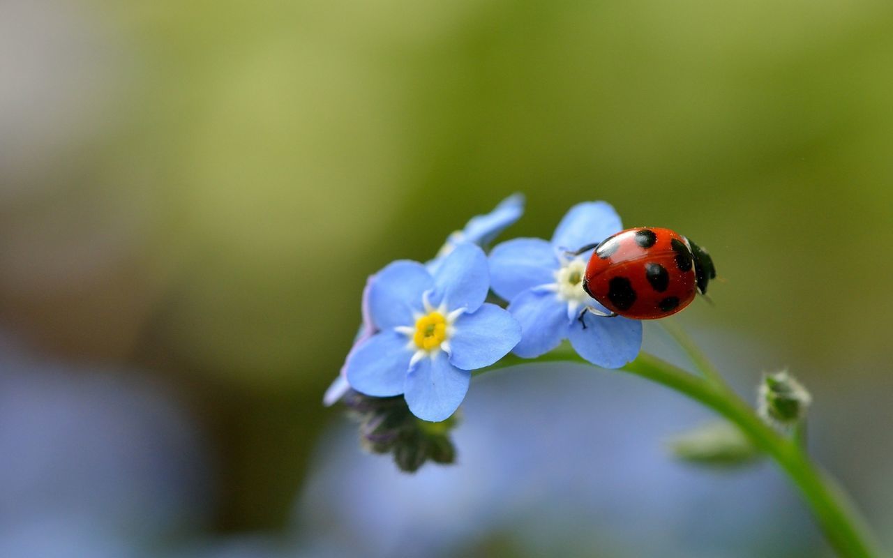
[[[642,344],[640,321],[591,312],[579,320],[586,306],[608,311],[582,287],[592,251],[577,257],[565,254],[621,229],[610,204],[589,202],[564,215],[551,242],[515,238],[493,248],[489,258],[493,291],[510,301],[508,311],[522,327],[514,354],[533,358],[570,338],[580,356],[604,368],[620,368],[636,358]]]

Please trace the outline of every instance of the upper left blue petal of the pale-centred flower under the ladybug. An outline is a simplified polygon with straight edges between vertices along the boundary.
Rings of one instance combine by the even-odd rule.
[[[490,252],[490,287],[505,300],[512,300],[530,287],[555,282],[560,265],[555,249],[539,238],[514,238]]]

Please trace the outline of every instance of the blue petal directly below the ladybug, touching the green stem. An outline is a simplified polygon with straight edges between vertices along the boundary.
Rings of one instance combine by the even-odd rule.
[[[632,361],[642,347],[642,322],[627,318],[603,318],[589,312],[571,325],[571,345],[580,356],[602,368],[620,368]]]

